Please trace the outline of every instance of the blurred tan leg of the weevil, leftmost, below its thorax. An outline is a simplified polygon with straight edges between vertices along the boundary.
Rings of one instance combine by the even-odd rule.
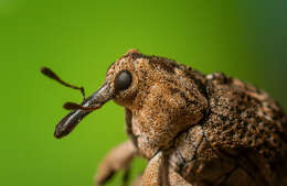
[[[136,152],[137,150],[130,140],[113,149],[97,168],[95,185],[104,185],[119,169],[127,171]]]

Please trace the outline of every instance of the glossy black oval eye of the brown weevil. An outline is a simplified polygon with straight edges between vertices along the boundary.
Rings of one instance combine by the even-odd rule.
[[[115,78],[115,89],[116,91],[127,89],[132,81],[132,76],[128,70],[121,70],[117,74]]]

